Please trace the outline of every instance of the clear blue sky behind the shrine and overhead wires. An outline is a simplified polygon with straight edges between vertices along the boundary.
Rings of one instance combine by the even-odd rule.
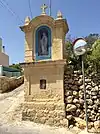
[[[2,6],[1,1],[6,2],[16,15],[12,15]],[[30,3],[34,18],[41,14],[41,5],[48,5],[49,0],[30,0]],[[52,0],[54,18],[59,10],[67,19],[68,34],[73,38],[90,33],[100,34],[100,0]],[[10,64],[24,62],[24,33],[19,26],[24,25],[26,16],[31,17],[28,0],[0,0],[0,37],[9,55]]]

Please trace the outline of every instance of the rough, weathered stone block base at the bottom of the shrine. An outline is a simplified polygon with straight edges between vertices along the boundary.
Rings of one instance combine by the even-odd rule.
[[[64,111],[65,106],[59,103],[27,102],[24,104],[22,118],[35,123],[68,127],[68,120],[65,119]]]

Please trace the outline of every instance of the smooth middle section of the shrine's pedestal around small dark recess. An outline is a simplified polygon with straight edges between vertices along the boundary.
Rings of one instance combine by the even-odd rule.
[[[64,68],[62,66],[26,67],[24,74],[26,101],[51,99],[51,101],[64,102]],[[46,89],[40,89],[41,79],[46,80]]]

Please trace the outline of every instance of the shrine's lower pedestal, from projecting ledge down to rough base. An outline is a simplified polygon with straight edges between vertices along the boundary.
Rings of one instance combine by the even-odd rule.
[[[23,120],[67,126],[64,104],[65,60],[23,63],[25,78],[25,102]],[[46,81],[41,89],[41,80]]]

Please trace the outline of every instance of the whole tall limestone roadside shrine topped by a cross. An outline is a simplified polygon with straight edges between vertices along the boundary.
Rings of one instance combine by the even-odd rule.
[[[64,103],[65,36],[68,24],[61,12],[54,19],[41,7],[42,14],[25,19],[24,68],[25,101],[23,120],[67,126]]]

